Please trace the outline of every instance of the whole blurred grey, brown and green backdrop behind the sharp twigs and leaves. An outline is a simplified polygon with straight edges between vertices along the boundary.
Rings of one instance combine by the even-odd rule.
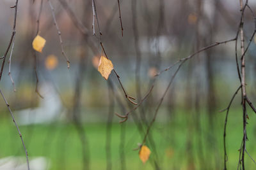
[[[115,74],[106,81],[97,66],[101,39],[122,85],[139,103],[159,71],[204,46],[235,38],[241,15],[238,0],[120,0],[124,36],[116,0],[95,0],[96,36],[92,1],[51,3],[70,68],[61,54],[48,1],[23,0],[19,1],[10,69],[15,87],[8,76],[8,62],[1,81],[31,169],[223,169],[225,112],[220,110],[228,106],[240,85],[234,41],[205,50],[180,68],[148,134],[145,145],[152,153],[145,164],[133,149],[143,141],[175,69],[157,76],[147,99],[127,122],[119,124],[115,113],[123,115],[134,105],[125,99]],[[10,7],[14,4],[14,0],[0,2],[0,55],[12,33],[15,10]],[[249,4],[255,11],[255,1]],[[32,48],[37,27],[46,39],[42,53]],[[253,17],[246,10],[246,45],[253,31]],[[255,43],[253,39],[246,55],[246,90],[252,103],[256,102]],[[10,52],[6,61],[9,57]],[[0,169],[26,169],[19,134],[2,99],[0,106]],[[256,158],[256,117],[250,108],[248,117],[246,149]],[[227,124],[228,169],[237,168],[242,138],[238,93]],[[246,169],[256,168],[248,155],[245,162]]]

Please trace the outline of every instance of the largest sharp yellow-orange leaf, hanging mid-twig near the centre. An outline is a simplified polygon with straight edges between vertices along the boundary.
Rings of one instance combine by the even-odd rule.
[[[112,69],[114,69],[111,60],[107,59],[104,56],[100,57],[100,62],[98,66],[98,71],[106,80],[108,80],[108,76],[111,73]]]

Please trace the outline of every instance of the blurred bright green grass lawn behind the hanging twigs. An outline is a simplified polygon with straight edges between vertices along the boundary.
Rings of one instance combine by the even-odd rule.
[[[256,158],[256,118],[249,111],[248,138],[246,148]],[[161,115],[161,113],[159,114]],[[195,114],[188,111],[175,111],[170,121],[157,121],[150,136],[154,139],[156,150],[146,143],[152,151],[150,160],[143,164],[138,151],[133,151],[140,143],[141,136],[136,125],[125,122],[125,167],[126,169],[154,169],[154,158],[158,157],[161,169],[223,169],[223,125],[225,113],[216,112],[214,126],[209,125],[209,117],[202,112],[200,133],[196,129]],[[243,137],[243,120],[240,108],[230,111],[227,127],[228,169],[236,169],[239,147]],[[88,139],[90,169],[106,169],[106,123],[83,124]],[[44,156],[51,161],[51,169],[82,169],[82,145],[76,127],[71,123],[54,122],[44,125],[20,126],[20,131],[28,149],[29,159]],[[120,162],[121,125],[112,124],[111,165],[121,169]],[[0,157],[24,156],[24,150],[17,129],[10,117],[0,120]],[[200,144],[200,140],[202,143]],[[188,141],[191,145],[188,148]],[[200,159],[198,148],[202,148],[204,161]],[[157,152],[157,153],[156,153]],[[192,163],[191,161],[192,160]],[[204,166],[202,165],[204,163]],[[256,165],[246,155],[246,169],[256,169]]]

